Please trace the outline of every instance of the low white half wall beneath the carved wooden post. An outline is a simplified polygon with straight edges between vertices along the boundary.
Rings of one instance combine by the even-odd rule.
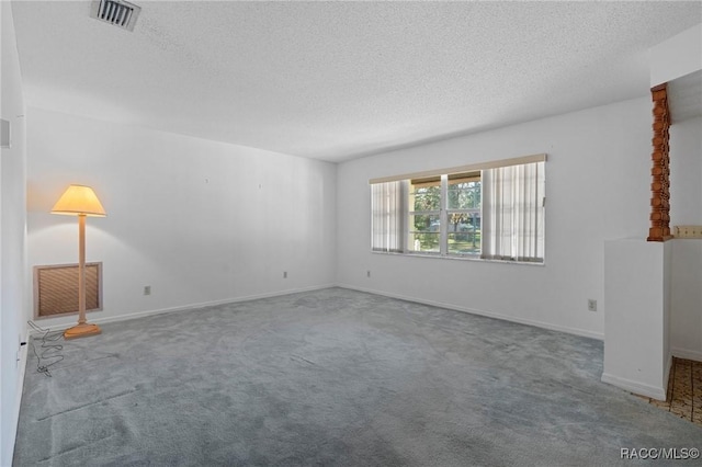
[[[604,258],[608,312],[602,380],[666,400],[671,242],[608,240]]]

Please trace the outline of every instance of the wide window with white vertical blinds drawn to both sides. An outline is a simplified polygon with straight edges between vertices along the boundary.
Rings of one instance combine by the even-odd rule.
[[[372,180],[372,249],[543,262],[545,155]]]

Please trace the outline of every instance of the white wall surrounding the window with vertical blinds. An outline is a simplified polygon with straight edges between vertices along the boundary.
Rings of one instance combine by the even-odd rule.
[[[601,339],[604,240],[648,232],[650,112],[641,98],[341,163],[340,285]],[[370,179],[540,152],[544,265],[371,252]]]

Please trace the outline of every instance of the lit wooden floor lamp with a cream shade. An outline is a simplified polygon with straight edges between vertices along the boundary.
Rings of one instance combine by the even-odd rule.
[[[86,217],[105,217],[105,209],[90,186],[70,185],[52,214],[78,216],[78,324],[67,329],[64,339],[99,334],[100,327],[86,321]]]

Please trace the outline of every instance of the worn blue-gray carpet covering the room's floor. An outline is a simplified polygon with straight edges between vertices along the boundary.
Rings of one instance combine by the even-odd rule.
[[[27,363],[15,466],[610,466],[702,447],[600,383],[599,341],[342,288],[64,345],[53,377]]]

